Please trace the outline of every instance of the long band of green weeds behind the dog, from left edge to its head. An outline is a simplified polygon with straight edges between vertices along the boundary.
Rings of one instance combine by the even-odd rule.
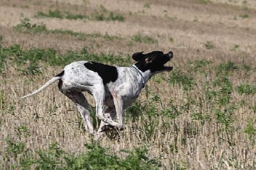
[[[67,65],[72,61],[87,60],[98,61],[100,63],[116,63],[117,65],[127,66],[130,63],[130,58],[115,56],[113,54],[92,54],[84,47],[81,51],[68,51],[60,54],[54,49],[38,49],[29,50],[20,49],[20,45],[12,45],[11,47],[0,47],[1,55],[12,58],[12,61],[19,66],[17,70],[23,75],[36,75],[41,73],[40,62],[49,63],[50,65]],[[4,58],[4,59],[6,59]],[[28,62],[29,61],[29,62]],[[29,65],[28,65],[29,63]],[[25,67],[24,67],[25,66]]]

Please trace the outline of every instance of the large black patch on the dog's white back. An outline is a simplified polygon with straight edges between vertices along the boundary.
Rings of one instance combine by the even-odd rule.
[[[104,65],[93,61],[84,63],[84,66],[93,72],[97,72],[104,85],[110,81],[115,82],[118,77],[118,72],[115,66]]]

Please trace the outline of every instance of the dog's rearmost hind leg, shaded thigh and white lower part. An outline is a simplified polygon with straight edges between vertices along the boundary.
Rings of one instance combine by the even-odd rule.
[[[86,131],[88,131],[90,134],[93,134],[94,133],[93,126],[90,119],[90,112],[88,110],[89,105],[83,93],[82,92],[63,92],[63,91],[61,92],[76,104],[77,109],[83,118],[84,127]]]

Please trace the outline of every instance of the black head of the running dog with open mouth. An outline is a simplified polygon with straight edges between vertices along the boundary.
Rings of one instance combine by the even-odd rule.
[[[165,63],[173,58],[173,52],[170,51],[164,54],[162,51],[153,51],[148,54],[143,52],[136,52],[132,54],[132,59],[137,61],[135,64],[142,72],[150,70],[154,72],[170,72],[172,66],[164,66]]]

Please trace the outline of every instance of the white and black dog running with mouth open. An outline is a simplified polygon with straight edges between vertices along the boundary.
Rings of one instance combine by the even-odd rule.
[[[55,81],[61,93],[72,100],[83,117],[86,131],[93,134],[88,102],[83,95],[86,91],[95,100],[96,116],[101,120],[97,134],[104,132],[105,126],[124,129],[124,109],[140,95],[150,77],[161,72],[170,72],[173,67],[165,64],[173,58],[173,52],[164,54],[152,51],[148,54],[136,52],[132,59],[136,63],[129,67],[110,66],[93,61],[76,61],[65,66],[63,71],[52,77],[44,86],[21,98],[31,97],[47,88]],[[106,110],[104,111],[104,105]],[[117,116],[118,122],[114,121]]]

